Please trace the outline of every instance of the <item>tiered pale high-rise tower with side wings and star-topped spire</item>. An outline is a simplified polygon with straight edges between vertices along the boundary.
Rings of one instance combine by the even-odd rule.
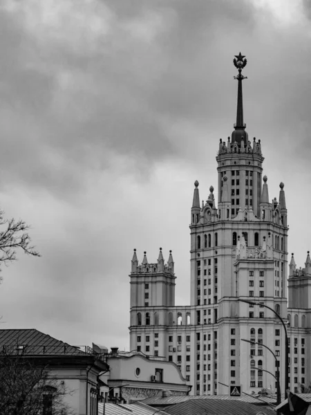
[[[310,381],[311,260],[308,253],[305,269],[296,270],[292,257],[288,279],[284,185],[270,201],[261,140],[249,140],[243,121],[246,62],[241,53],[234,58],[236,124],[219,143],[217,204],[211,186],[201,205],[194,183],[190,306],[175,305],[171,252],[167,264],[161,248],[156,264],[146,252],[141,264],[136,252],[132,259],[131,350],[175,362],[192,394],[227,394],[229,385],[276,390],[278,365],[285,389],[285,330],[273,311],[288,330],[290,389],[303,391]]]

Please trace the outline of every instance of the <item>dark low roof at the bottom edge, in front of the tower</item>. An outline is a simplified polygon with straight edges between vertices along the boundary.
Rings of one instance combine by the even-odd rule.
[[[272,415],[271,409],[261,408],[263,414]],[[258,407],[238,400],[191,399],[164,408],[171,415],[256,415]]]

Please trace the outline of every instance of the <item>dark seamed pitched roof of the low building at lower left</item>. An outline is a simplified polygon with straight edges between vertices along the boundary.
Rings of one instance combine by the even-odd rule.
[[[0,352],[27,356],[86,356],[78,347],[62,342],[36,329],[0,330]],[[18,349],[20,347],[20,349]]]

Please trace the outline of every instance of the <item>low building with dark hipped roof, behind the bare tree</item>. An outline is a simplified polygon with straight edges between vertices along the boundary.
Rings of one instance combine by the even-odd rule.
[[[73,414],[97,415],[99,375],[108,367],[90,347],[74,347],[36,329],[5,329],[0,330],[0,356],[31,358],[47,367],[69,392],[64,403]]]

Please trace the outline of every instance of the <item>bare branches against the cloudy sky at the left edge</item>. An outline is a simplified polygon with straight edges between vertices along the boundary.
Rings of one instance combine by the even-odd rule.
[[[17,250],[23,250],[27,255],[40,257],[35,247],[31,245],[28,234],[30,226],[21,219],[5,219],[3,210],[0,210],[0,271],[1,264],[8,266],[17,259]],[[1,277],[0,277],[1,279]]]

